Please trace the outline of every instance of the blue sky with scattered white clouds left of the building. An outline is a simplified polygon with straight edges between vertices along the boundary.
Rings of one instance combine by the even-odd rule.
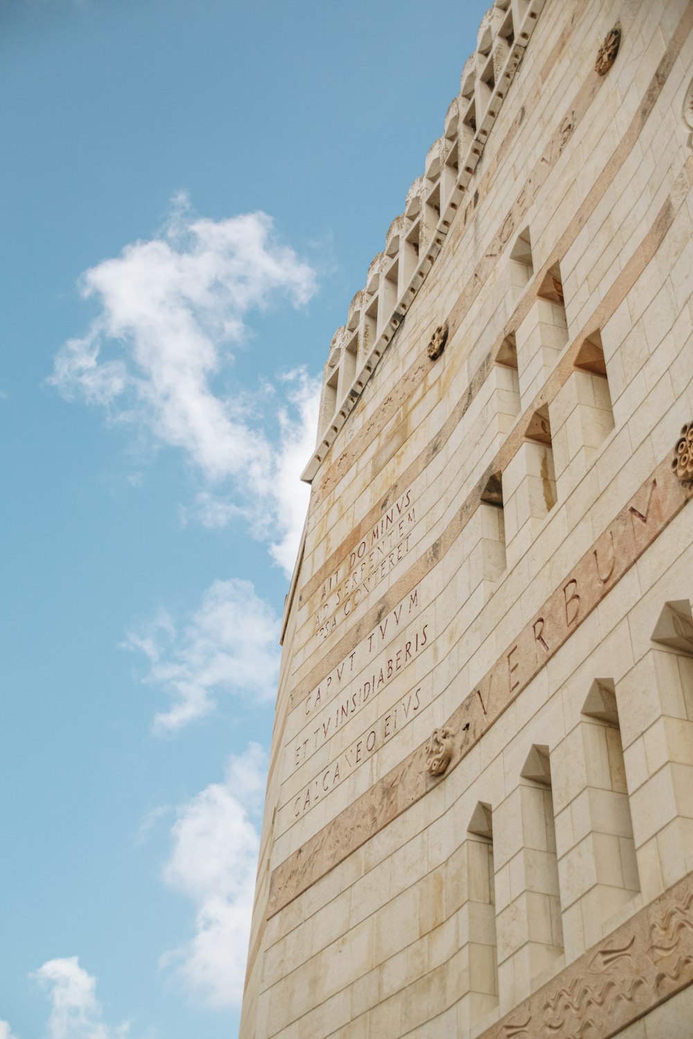
[[[0,0],[0,1039],[236,1034],[316,380],[484,6]]]

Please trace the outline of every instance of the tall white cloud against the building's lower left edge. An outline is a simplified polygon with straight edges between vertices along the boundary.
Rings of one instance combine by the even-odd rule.
[[[178,810],[164,880],[195,905],[195,934],[167,953],[188,990],[211,1006],[237,1007],[243,994],[260,837],[266,758],[256,743],[233,755],[223,782]]]

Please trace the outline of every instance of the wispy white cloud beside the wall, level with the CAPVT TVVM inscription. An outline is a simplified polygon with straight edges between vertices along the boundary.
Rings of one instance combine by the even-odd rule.
[[[155,730],[171,732],[213,709],[219,693],[271,700],[279,664],[279,619],[249,581],[215,581],[179,632],[161,610],[124,647],[144,654],[143,682],[159,686],[171,707]]]

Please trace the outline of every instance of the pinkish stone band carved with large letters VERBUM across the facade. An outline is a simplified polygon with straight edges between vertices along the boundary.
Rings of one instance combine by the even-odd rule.
[[[667,457],[445,722],[457,736],[446,775],[488,731],[692,497],[693,485],[686,487],[678,481],[671,470],[671,459]],[[447,541],[447,538],[444,535],[439,540]],[[452,540],[450,538],[450,543]],[[445,545],[446,551],[448,547]],[[431,549],[425,558],[437,562],[442,555],[443,551],[436,554]],[[417,567],[412,569],[416,571]],[[436,779],[426,772],[425,747],[422,744],[408,754],[273,871],[268,916],[311,887],[433,785],[445,782],[445,778]]]

